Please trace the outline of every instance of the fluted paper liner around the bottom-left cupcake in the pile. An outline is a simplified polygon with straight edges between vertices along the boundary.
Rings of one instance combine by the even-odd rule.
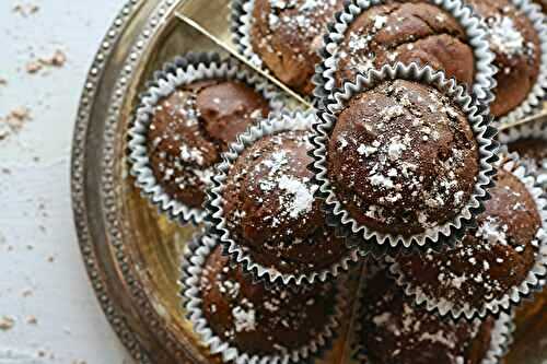
[[[301,364],[313,362],[314,359],[321,357],[331,347],[333,339],[336,337],[344,317],[344,312],[348,306],[348,291],[344,284],[344,280],[338,282],[334,313],[326,319],[325,328],[322,332],[317,333],[314,340],[302,348],[277,355],[249,355],[216,336],[203,316],[199,282],[207,257],[214,250],[219,243],[216,238],[207,236],[200,242],[201,244],[197,247],[194,255],[183,261],[183,271],[186,271],[188,275],[182,282],[182,295],[186,298],[185,308],[188,313],[188,319],[194,325],[195,332],[200,337],[201,342],[209,349],[211,354],[221,355],[224,363]]]

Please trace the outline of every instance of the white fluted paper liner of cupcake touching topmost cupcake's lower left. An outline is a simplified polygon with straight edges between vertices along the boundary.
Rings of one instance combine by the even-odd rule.
[[[302,274],[283,273],[272,267],[264,267],[256,262],[251,254],[231,237],[226,228],[222,192],[229,171],[241,153],[267,136],[287,130],[310,130],[314,120],[315,115],[311,111],[296,110],[270,115],[268,120],[251,127],[245,133],[240,136],[237,142],[233,143],[230,150],[223,155],[223,162],[217,166],[213,185],[208,191],[209,199],[206,202],[206,209],[209,213],[206,216],[206,221],[211,225],[211,234],[218,236],[220,242],[226,247],[232,261],[243,265],[244,270],[252,272],[257,280],[283,285],[313,284],[317,281],[325,282],[338,277],[340,272],[348,271],[349,267],[359,260],[358,250],[351,249],[347,256],[328,268]]]

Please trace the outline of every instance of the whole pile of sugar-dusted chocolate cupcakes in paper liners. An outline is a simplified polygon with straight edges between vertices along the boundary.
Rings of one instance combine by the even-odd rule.
[[[232,30],[316,109],[289,109],[233,59],[186,55],[155,74],[129,142],[143,196],[205,222],[181,279],[203,345],[315,362],[356,312],[356,362],[498,363],[547,273],[547,133],[496,128],[540,109],[539,8],[234,0]]]

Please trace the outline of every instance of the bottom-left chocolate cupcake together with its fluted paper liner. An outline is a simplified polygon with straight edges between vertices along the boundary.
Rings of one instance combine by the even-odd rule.
[[[224,362],[301,363],[318,355],[338,326],[344,298],[335,282],[256,284],[207,236],[183,267],[190,321]]]

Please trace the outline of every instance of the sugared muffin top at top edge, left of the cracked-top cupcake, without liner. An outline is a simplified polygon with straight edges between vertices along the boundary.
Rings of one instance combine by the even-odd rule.
[[[342,8],[344,0],[255,0],[253,50],[279,80],[312,95],[326,25]]]

